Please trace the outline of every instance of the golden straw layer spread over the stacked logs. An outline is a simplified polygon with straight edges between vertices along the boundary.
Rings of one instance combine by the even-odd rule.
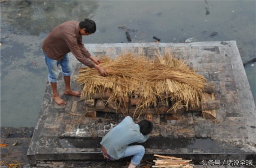
[[[94,68],[82,67],[77,82],[83,85],[81,98],[90,98],[96,93],[108,93],[108,101],[115,101],[119,107],[128,107],[131,97],[138,97],[137,108],[156,107],[157,101],[171,99],[172,109],[183,104],[200,105],[205,79],[182,61],[167,53],[157,54],[154,59],[141,55],[123,54],[111,59],[104,56],[101,67],[108,71],[103,77]],[[162,95],[165,94],[163,97]]]

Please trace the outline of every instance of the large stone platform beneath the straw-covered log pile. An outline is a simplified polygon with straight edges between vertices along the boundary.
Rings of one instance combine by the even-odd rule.
[[[144,159],[160,154],[198,162],[256,161],[256,108],[236,41],[87,44],[86,48],[91,54],[111,57],[125,52],[150,57],[155,52],[171,51],[209,82],[216,83],[215,97],[221,101],[216,120],[205,120],[199,112],[185,113],[179,120],[169,121],[156,115],[155,128],[143,144]],[[72,88],[81,90],[74,79],[82,65],[75,58],[72,64]],[[58,89],[67,105],[58,106],[52,101],[48,84],[27,151],[30,165],[54,160],[102,160],[99,142],[124,116],[97,113],[96,118],[85,117],[84,101],[63,94],[61,74]]]

